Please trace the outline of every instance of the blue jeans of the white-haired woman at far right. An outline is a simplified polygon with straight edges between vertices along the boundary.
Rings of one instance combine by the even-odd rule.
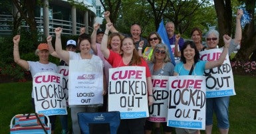
[[[217,117],[217,127],[229,128],[229,96],[206,99],[206,121],[205,125],[213,124],[213,112]]]

